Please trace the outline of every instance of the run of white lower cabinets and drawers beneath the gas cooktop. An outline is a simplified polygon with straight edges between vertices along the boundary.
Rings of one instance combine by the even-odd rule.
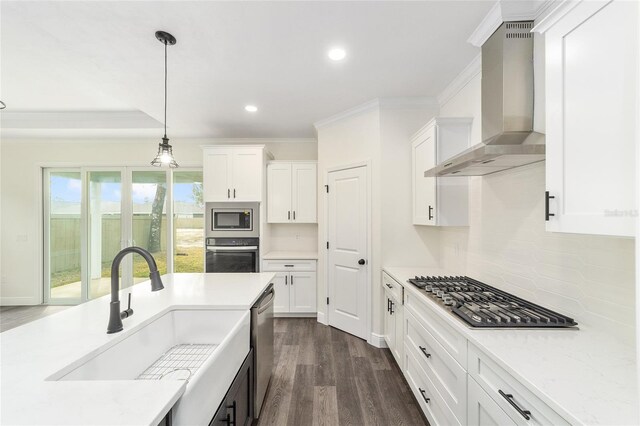
[[[570,424],[469,342],[426,295],[386,273],[382,287],[385,341],[431,425]]]

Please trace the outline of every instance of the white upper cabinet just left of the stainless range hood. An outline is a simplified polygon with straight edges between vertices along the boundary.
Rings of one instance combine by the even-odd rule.
[[[424,172],[470,146],[471,118],[434,118],[411,139],[413,224],[469,224],[469,178]]]

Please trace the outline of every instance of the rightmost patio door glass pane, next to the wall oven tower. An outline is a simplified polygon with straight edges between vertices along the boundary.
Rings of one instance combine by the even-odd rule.
[[[202,171],[173,172],[175,272],[204,272]]]

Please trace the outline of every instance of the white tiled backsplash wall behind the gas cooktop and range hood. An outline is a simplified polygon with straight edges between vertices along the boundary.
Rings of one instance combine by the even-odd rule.
[[[444,116],[474,117],[474,143],[480,142],[475,128],[481,122],[480,78],[440,110]],[[536,81],[538,89],[541,84]],[[539,90],[536,101],[536,129],[543,130]],[[441,230],[443,267],[574,316],[578,323],[633,338],[633,239],[546,232],[544,162],[474,177],[470,185],[470,226]]]

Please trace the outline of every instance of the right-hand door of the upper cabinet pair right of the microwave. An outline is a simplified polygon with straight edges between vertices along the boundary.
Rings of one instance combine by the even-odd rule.
[[[293,163],[293,221],[297,223],[317,222],[317,165],[316,163]]]

